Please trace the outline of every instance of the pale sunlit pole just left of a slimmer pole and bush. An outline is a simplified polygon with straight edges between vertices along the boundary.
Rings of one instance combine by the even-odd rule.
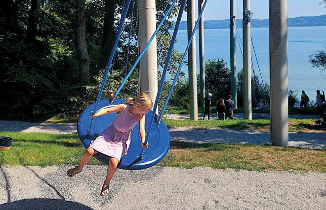
[[[191,38],[192,30],[195,28],[195,0],[188,0],[187,8],[188,40]],[[188,51],[188,75],[189,75],[189,104],[190,119],[198,120],[197,105],[197,71],[196,71],[196,35],[191,42]]]

